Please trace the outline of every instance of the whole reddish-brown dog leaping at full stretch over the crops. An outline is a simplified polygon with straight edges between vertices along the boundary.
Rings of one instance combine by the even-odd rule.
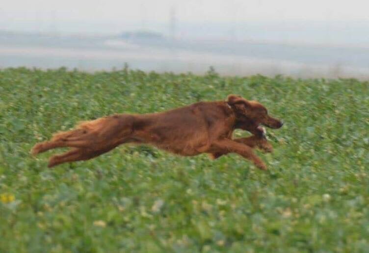
[[[32,153],[73,148],[51,157],[49,167],[53,167],[91,159],[123,143],[151,144],[185,156],[209,153],[214,159],[234,152],[266,170],[264,162],[252,150],[272,151],[260,125],[279,128],[283,123],[268,116],[261,103],[229,95],[227,101],[197,102],[165,112],[119,114],[83,122],[74,130],[54,134],[51,141],[36,144]],[[232,139],[236,128],[253,135]]]

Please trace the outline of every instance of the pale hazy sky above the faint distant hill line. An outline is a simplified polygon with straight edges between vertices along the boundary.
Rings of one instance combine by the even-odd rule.
[[[368,9],[367,0],[11,0],[0,5],[0,30],[362,46]]]

